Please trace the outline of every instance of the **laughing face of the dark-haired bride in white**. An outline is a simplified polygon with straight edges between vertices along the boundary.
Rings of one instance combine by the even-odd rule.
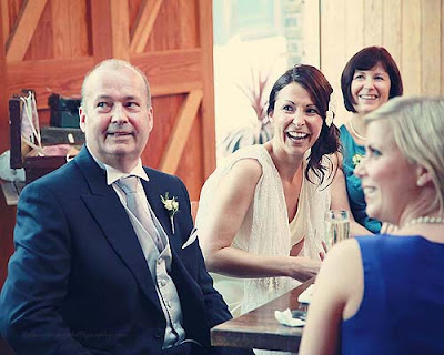
[[[278,93],[270,116],[274,122],[274,145],[287,154],[303,155],[321,134],[320,110],[310,92],[296,82]]]

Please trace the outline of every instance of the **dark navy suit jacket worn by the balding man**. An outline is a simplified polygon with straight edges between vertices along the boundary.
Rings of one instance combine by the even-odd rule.
[[[175,176],[147,173],[147,197],[170,237],[186,337],[210,346],[209,329],[231,315],[199,242],[182,248],[193,227],[186,189]],[[160,199],[165,192],[180,204],[174,234]],[[0,332],[18,354],[161,354],[165,320],[142,248],[85,148],[22,191],[14,244]]]

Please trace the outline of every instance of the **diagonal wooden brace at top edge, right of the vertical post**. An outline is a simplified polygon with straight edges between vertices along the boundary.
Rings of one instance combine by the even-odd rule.
[[[130,51],[132,53],[143,53],[161,4],[162,0],[144,1],[143,8],[135,20],[134,29],[131,33]]]

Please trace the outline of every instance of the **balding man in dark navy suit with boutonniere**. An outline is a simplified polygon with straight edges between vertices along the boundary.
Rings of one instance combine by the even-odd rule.
[[[95,67],[80,124],[78,156],[21,193],[1,335],[18,354],[251,354],[210,346],[210,328],[231,315],[185,186],[142,168],[153,126],[143,73],[119,60]]]

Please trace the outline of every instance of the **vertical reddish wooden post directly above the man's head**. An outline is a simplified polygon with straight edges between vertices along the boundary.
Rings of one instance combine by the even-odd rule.
[[[92,55],[94,64],[112,57],[110,0],[91,3]]]

